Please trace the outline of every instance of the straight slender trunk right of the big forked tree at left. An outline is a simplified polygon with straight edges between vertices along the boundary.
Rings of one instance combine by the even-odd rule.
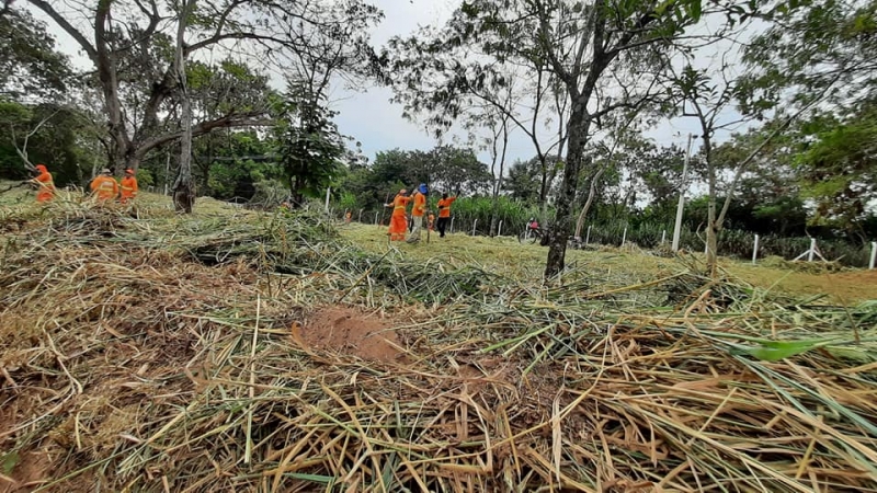
[[[182,94],[182,117],[180,126],[183,135],[180,138],[180,171],[173,184],[173,207],[179,211],[192,214],[195,204],[195,187],[192,183],[192,100],[189,98],[189,85],[185,79],[185,58],[183,55],[183,39],[185,36],[185,22],[195,0],[181,0],[180,22],[176,27],[176,57],[174,65],[176,77],[180,81]]]

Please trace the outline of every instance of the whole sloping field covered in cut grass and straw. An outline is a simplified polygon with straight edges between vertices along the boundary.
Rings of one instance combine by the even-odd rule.
[[[0,492],[877,492],[874,272],[196,210],[0,195]]]

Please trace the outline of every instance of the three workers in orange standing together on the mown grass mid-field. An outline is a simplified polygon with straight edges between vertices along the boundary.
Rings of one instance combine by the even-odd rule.
[[[429,190],[426,188],[426,184],[421,183],[412,195],[409,196],[408,191],[402,188],[398,194],[396,194],[396,197],[394,197],[392,202],[384,204],[386,207],[392,208],[390,227],[389,231],[387,232],[390,241],[405,240],[407,243],[417,243],[420,241],[420,232],[423,229],[423,216],[428,214],[428,195]],[[457,197],[448,197],[445,193],[442,194],[442,199],[438,200],[438,222],[435,226],[438,228],[440,238],[445,237],[445,229],[447,228],[447,222],[451,220],[451,204],[453,204],[456,199]],[[409,230],[408,214],[406,209],[409,203],[412,203],[413,206],[411,208],[410,234],[406,240],[405,233],[407,230]],[[428,219],[429,223],[426,227],[432,231],[435,216],[432,213],[429,213]]]

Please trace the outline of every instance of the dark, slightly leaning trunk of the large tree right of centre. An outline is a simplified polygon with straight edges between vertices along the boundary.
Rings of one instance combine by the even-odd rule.
[[[545,264],[545,279],[548,280],[563,271],[567,240],[572,226],[572,203],[576,198],[576,185],[582,167],[582,153],[588,141],[591,116],[586,113],[582,101],[586,102],[590,91],[573,102],[569,116],[569,140],[567,141],[567,162],[563,167],[563,183],[557,197],[555,222],[548,231],[548,260]]]

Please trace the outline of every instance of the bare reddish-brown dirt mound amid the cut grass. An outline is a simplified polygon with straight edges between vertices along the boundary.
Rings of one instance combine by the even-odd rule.
[[[301,341],[315,351],[331,351],[374,362],[402,358],[392,322],[354,308],[321,308],[308,316],[297,330]]]

